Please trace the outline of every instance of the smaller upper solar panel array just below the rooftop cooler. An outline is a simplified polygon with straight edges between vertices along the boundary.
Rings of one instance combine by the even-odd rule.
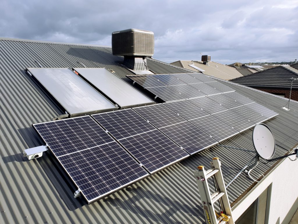
[[[172,102],[235,91],[202,73],[127,76],[163,100]]]

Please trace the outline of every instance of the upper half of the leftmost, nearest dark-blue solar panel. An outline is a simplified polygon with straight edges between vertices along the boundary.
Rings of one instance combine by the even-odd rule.
[[[90,116],[33,124],[33,127],[55,156],[114,141]]]

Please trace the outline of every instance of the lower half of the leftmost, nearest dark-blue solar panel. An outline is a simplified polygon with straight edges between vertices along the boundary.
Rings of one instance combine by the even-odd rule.
[[[120,145],[96,146],[59,162],[88,202],[100,199],[149,174]]]

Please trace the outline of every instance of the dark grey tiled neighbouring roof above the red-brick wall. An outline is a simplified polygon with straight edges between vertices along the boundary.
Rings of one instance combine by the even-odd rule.
[[[278,66],[248,76],[232,79],[231,82],[253,88],[289,89],[291,87],[290,79],[292,77],[298,77],[298,74],[293,71],[293,68],[290,70],[287,66]],[[298,81],[293,81],[293,88],[298,88]]]

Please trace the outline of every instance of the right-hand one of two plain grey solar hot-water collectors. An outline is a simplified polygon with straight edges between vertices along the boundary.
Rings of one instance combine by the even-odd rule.
[[[154,104],[147,96],[105,68],[74,68],[121,108]]]

